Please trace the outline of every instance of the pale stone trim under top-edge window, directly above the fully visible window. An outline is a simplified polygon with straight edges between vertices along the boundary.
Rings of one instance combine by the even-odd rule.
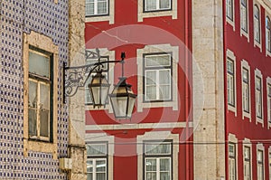
[[[172,0],[172,9],[168,11],[144,12],[143,4],[144,4],[143,0],[137,0],[137,21],[138,22],[143,22],[144,18],[160,17],[160,16],[172,16],[173,19],[177,19],[178,0]]]

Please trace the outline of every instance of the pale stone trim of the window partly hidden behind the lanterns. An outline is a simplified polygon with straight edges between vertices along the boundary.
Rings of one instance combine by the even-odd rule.
[[[94,49],[87,49],[91,52],[95,52]],[[108,56],[108,61],[112,61],[112,60],[115,60],[115,51],[108,51],[107,48],[100,48],[98,49],[99,50],[99,53],[100,55],[102,56]],[[109,93],[113,90],[114,86],[114,66],[115,64],[114,63],[108,63],[108,83],[110,84],[110,88],[109,88]],[[112,109],[112,106],[111,106],[111,102],[109,100],[109,98],[107,99],[108,103],[106,104],[106,107],[100,107],[99,109],[94,109],[93,108],[93,105],[86,105],[86,110],[100,110],[100,109],[108,109],[108,112],[109,113],[113,113],[113,109]]]

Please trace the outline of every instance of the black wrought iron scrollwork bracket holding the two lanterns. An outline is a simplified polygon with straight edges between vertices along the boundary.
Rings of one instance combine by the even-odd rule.
[[[121,60],[120,61],[107,61],[107,62],[100,62],[100,54],[99,50],[96,49],[96,52],[91,52],[86,50],[85,52],[86,60],[89,59],[96,59],[98,62],[90,63],[82,66],[75,66],[70,67],[67,66],[66,62],[63,62],[63,101],[66,102],[67,97],[74,96],[79,87],[85,87],[87,80],[91,73],[98,69],[98,67],[103,66],[105,63],[117,63],[121,62],[124,63],[125,52],[122,52]]]

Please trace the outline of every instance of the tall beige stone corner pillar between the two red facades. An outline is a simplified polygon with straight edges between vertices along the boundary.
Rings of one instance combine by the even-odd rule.
[[[195,180],[225,179],[222,9],[222,0],[192,0],[193,94],[204,99],[203,107],[193,99],[194,114],[201,114],[194,119]]]

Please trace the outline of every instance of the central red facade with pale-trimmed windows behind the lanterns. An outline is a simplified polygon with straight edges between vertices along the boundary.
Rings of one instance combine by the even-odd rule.
[[[86,98],[89,179],[193,178],[190,22],[187,0],[86,1],[86,49],[98,48],[102,61],[126,52],[124,74],[137,94],[131,119]],[[121,65],[103,71],[112,90]]]

